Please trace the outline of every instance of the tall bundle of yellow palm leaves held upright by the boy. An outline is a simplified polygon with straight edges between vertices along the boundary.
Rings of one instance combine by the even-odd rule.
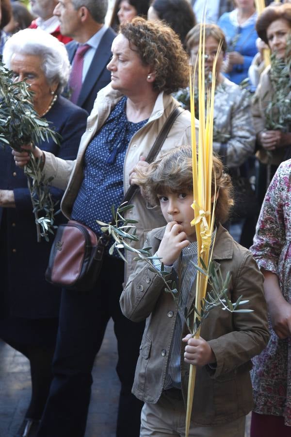
[[[220,48],[219,48],[220,50]],[[219,53],[218,50],[218,53]],[[213,114],[214,114],[214,92],[215,92],[215,72],[217,56],[213,62],[211,90],[207,90],[207,102],[205,107],[205,28],[201,25],[199,52],[198,52],[198,104],[199,104],[199,134],[198,148],[194,134],[195,128],[195,108],[194,108],[194,74],[190,73],[190,105],[191,105],[191,125],[192,125],[192,161],[193,161],[193,194],[194,194],[194,220],[198,251],[198,265],[202,268],[200,257],[208,266],[210,260],[211,235],[214,227],[214,206],[211,210],[211,178],[212,178],[212,138],[213,138]],[[208,278],[197,271],[196,277],[196,298],[195,304],[200,313],[201,300],[206,296]],[[194,320],[196,314],[194,314]],[[195,337],[199,337],[200,330]],[[196,367],[190,366],[187,412],[186,412],[186,434],[189,435],[190,420],[192,413],[194,387],[196,379]]]

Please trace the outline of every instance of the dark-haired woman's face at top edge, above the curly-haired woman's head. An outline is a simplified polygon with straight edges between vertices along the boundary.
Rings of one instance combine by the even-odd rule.
[[[118,32],[119,25],[131,21],[134,17],[146,17],[149,0],[116,0],[110,26]]]

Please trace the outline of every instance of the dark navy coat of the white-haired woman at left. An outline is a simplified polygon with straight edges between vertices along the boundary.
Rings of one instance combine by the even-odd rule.
[[[49,140],[39,147],[64,159],[75,159],[81,135],[86,129],[87,112],[59,97],[46,118],[62,135],[61,147]],[[27,178],[17,168],[10,147],[0,148],[0,189],[13,190],[16,208],[0,208],[0,306],[6,302],[10,315],[40,319],[56,317],[60,292],[46,282],[51,242],[36,241],[36,228]],[[51,188],[54,200],[63,191]],[[59,205],[57,206],[59,209]],[[57,222],[64,222],[63,215]]]

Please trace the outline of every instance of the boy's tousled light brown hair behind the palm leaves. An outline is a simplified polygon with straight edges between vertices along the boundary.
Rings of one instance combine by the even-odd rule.
[[[138,185],[144,198],[151,205],[160,205],[158,196],[167,192],[193,192],[192,148],[180,146],[164,153],[148,167],[136,170]],[[232,183],[230,176],[224,171],[221,160],[213,155],[212,164],[212,196],[218,193],[215,205],[216,222],[225,223],[229,210],[233,205]]]

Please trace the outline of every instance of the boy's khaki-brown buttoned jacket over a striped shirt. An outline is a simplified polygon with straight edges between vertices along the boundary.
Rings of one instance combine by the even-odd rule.
[[[154,254],[161,243],[164,227],[147,235],[146,246]],[[218,226],[213,260],[223,277],[231,273],[230,297],[249,300],[241,308],[251,313],[230,313],[217,307],[203,321],[201,337],[209,341],[217,368],[197,369],[192,420],[197,425],[215,425],[238,419],[252,409],[252,386],[249,370],[251,358],[267,344],[269,333],[267,307],[263,295],[263,276],[252,254],[236,243],[221,225]],[[174,263],[178,272],[180,262]],[[195,284],[188,300],[188,309],[195,299]],[[129,277],[120,305],[123,314],[133,321],[146,319],[132,393],[147,403],[157,403],[165,381],[169,350],[175,328],[177,307],[157,273],[144,262],[138,262]],[[183,336],[188,334],[184,324]],[[130,339],[129,339],[130,341]],[[189,365],[184,362],[185,343],[181,341],[181,385],[187,402]]]

